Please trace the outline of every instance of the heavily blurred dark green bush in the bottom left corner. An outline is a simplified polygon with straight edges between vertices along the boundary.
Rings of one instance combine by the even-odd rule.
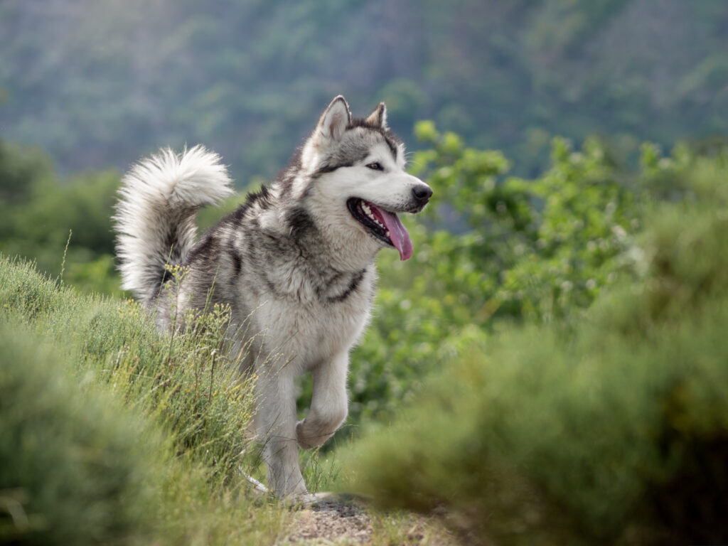
[[[161,435],[71,379],[58,349],[0,323],[0,542],[130,543],[148,535]]]

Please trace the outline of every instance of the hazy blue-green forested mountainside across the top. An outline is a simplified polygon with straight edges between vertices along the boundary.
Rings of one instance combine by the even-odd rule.
[[[5,0],[0,134],[63,173],[205,143],[245,186],[341,93],[536,175],[552,135],[629,158],[725,134],[727,53],[721,0]]]

